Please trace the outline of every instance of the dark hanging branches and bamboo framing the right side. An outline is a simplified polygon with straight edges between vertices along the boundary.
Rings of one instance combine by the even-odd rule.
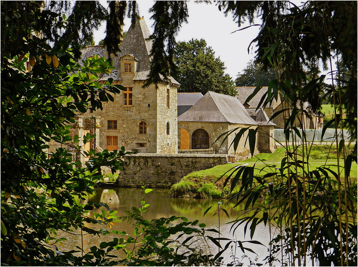
[[[261,169],[266,173],[262,177],[252,175],[252,167],[243,166],[231,181],[231,191],[239,181],[242,184],[232,201],[245,203],[245,210],[254,212],[235,220],[233,229],[245,223],[245,233],[250,230],[252,236],[256,225],[263,222],[277,226],[280,231],[270,244],[270,255],[266,258],[269,264],[279,261],[307,265],[308,260],[324,266],[357,264],[357,254],[352,253],[357,251],[357,184],[349,176],[352,164],[357,162],[356,140],[353,152],[346,150],[344,141],[332,144],[340,152],[339,163],[335,164],[339,172],[332,170],[333,165],[313,169],[307,160],[312,144],[305,140],[304,131],[301,136],[295,126],[295,121],[299,121],[299,127],[304,129],[303,103],[307,101],[313,111],[319,110],[320,97],[325,92],[337,114],[334,120],[325,123],[323,132],[333,123],[338,132],[347,125],[353,137],[357,136],[357,2],[340,3],[308,1],[284,10],[288,5],[283,1],[218,2],[219,9],[232,13],[239,25],[244,18],[252,23],[253,15],[261,14],[261,30],[253,40],[258,42],[256,62],[265,69],[274,69],[275,79],[269,82],[259,106],[271,103],[278,95],[285,102],[284,110],[271,117],[271,120],[282,115],[286,118],[286,155],[281,165],[272,170],[270,165],[265,166]],[[346,75],[336,76],[337,83],[328,85],[324,83],[328,77],[315,75],[318,63],[328,67],[326,63],[332,64],[333,57],[344,58],[338,65],[346,68]],[[262,85],[258,84],[247,101]],[[346,119],[343,110],[347,111]],[[234,147],[243,131],[234,138]],[[292,133],[302,137],[302,145],[288,146]],[[251,140],[254,141],[254,135]],[[253,180],[257,183],[252,183]],[[266,195],[264,204],[257,201],[260,195]]]

